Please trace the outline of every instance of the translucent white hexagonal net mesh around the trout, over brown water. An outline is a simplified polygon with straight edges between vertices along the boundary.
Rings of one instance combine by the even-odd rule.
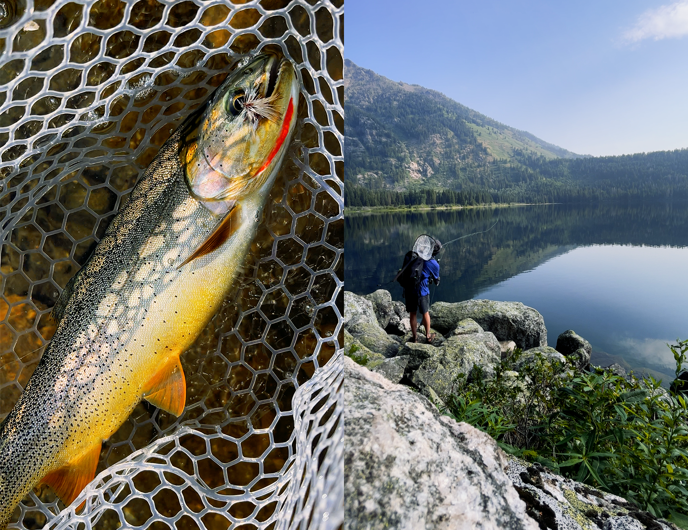
[[[182,416],[142,402],[71,506],[43,486],[15,527],[341,524],[342,17],[339,1],[0,0],[0,419],[61,290],[186,115],[264,47],[302,86],[244,269],[182,355]]]

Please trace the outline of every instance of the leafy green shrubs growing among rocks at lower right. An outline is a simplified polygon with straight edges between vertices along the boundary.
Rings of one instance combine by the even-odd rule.
[[[688,340],[669,346],[676,376]],[[491,381],[459,381],[444,412],[512,454],[632,500],[655,516],[688,514],[688,406],[652,376],[574,372],[537,356],[516,374],[502,361]],[[570,365],[569,365],[570,366]]]

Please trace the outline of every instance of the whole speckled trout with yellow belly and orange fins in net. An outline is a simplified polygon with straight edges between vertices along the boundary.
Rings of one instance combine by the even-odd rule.
[[[65,505],[141,399],[181,415],[180,354],[248,254],[296,123],[292,63],[241,63],[180,126],[53,310],[36,371],[0,426],[0,527],[33,487]]]

